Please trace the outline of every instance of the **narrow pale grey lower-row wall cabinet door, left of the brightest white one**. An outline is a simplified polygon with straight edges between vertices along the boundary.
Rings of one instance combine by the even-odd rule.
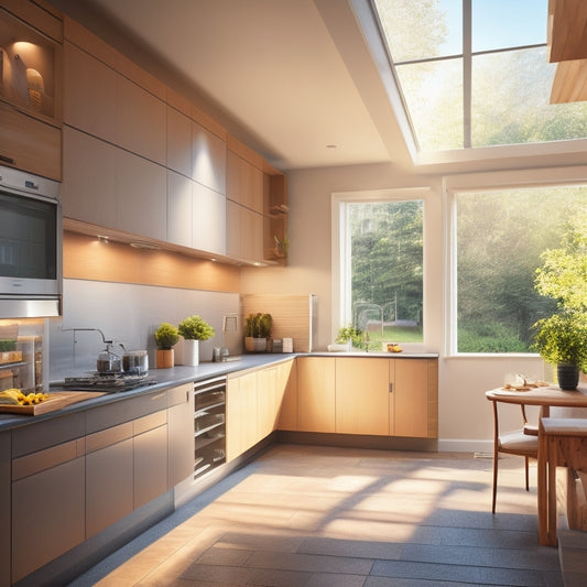
[[[167,242],[192,247],[192,185],[189,177],[167,170]]]

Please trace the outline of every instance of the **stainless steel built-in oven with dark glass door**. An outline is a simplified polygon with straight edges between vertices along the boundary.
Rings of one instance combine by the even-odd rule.
[[[0,165],[0,318],[59,316],[59,183]]]

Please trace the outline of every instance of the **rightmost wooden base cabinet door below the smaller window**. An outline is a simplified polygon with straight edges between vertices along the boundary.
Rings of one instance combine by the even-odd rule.
[[[428,361],[395,359],[394,436],[428,436]]]

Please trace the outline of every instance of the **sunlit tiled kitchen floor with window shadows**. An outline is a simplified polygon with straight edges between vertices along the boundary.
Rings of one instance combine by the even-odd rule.
[[[537,542],[535,467],[275,445],[80,576],[110,586],[562,586]]]

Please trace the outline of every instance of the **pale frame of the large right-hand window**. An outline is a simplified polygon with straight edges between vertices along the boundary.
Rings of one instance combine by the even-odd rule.
[[[535,352],[458,352],[456,195],[534,187],[587,185],[587,166],[488,172],[443,177],[445,215],[444,356],[458,358],[532,358]]]

